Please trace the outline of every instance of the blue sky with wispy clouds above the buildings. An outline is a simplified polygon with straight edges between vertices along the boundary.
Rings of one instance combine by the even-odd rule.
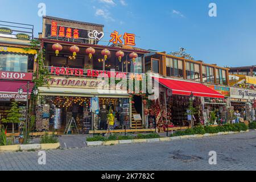
[[[220,66],[256,64],[256,0],[0,0],[0,19],[34,24],[35,32],[42,32],[40,2],[49,16],[134,33],[137,47],[166,52],[184,47],[196,60]],[[208,15],[211,2],[217,17]]]

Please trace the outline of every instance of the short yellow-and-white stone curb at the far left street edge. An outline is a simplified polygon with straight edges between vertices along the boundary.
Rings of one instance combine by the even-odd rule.
[[[60,143],[16,144],[11,146],[0,146],[0,151],[55,150],[59,147]]]

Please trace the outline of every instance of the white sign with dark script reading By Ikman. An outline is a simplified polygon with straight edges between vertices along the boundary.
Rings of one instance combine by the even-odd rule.
[[[256,90],[241,89],[230,87],[230,96],[232,98],[251,99],[256,98]]]

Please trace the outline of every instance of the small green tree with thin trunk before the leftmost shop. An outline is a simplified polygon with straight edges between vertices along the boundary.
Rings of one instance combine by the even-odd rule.
[[[22,117],[22,114],[19,113],[19,107],[17,102],[11,103],[11,109],[7,114],[7,118],[3,118],[3,123],[12,123],[13,124],[13,142],[14,142],[14,123],[19,123],[19,118]]]

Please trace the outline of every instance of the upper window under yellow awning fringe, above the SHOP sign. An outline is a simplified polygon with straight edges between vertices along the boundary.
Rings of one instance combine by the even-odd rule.
[[[27,72],[28,56],[0,53],[0,71]]]

